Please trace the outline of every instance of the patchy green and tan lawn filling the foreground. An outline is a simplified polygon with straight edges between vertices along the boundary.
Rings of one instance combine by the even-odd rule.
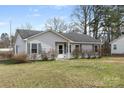
[[[0,87],[124,87],[124,58],[0,64]]]

